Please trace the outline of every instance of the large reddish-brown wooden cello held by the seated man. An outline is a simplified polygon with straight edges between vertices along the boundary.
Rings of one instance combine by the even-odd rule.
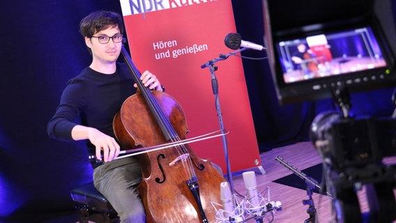
[[[114,116],[116,138],[123,148],[175,144],[137,155],[142,183],[136,190],[144,204],[146,222],[214,222],[216,210],[211,202],[220,201],[224,177],[188,144],[178,144],[188,133],[182,107],[171,95],[146,88],[124,46],[121,54],[138,91]]]

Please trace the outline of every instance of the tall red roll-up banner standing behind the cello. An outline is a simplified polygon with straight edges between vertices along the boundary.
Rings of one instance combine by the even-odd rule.
[[[219,130],[212,75],[201,66],[230,52],[224,37],[236,32],[231,1],[121,0],[121,8],[132,60],[139,70],[153,72],[183,107],[187,138]],[[242,61],[230,56],[215,66],[231,171],[257,167],[261,162]],[[190,146],[227,172],[221,137]]]

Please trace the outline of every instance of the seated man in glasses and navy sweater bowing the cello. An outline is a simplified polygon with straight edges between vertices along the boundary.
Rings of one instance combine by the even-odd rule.
[[[124,33],[122,17],[108,11],[91,13],[80,22],[80,32],[92,63],[68,82],[47,132],[55,139],[87,139],[90,155],[102,159],[91,160],[97,190],[112,203],[121,222],[145,222],[144,206],[135,192],[142,180],[139,164],[134,157],[115,160],[120,146],[112,121],[137,86],[128,68],[116,62]],[[162,91],[151,72],[143,72],[141,79],[149,89]]]

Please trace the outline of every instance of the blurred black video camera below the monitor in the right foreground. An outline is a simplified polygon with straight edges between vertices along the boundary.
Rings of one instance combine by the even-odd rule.
[[[396,120],[324,112],[312,122],[310,139],[336,171],[365,167],[396,155]]]

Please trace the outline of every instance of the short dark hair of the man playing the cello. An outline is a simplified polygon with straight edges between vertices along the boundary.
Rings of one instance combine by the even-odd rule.
[[[96,11],[79,22],[79,32],[83,37],[91,38],[94,33],[114,26],[119,26],[120,33],[123,34],[124,25],[119,13],[105,10]]]

